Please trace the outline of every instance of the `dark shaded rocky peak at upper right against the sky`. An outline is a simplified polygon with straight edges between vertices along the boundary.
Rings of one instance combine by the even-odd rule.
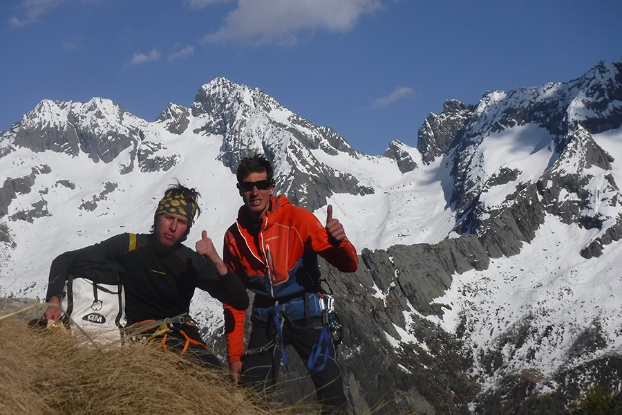
[[[468,216],[480,203],[480,195],[488,192],[491,186],[518,178],[520,168],[501,169],[494,172],[497,176],[488,171],[490,167],[482,168],[487,158],[484,156],[487,147],[480,148],[482,143],[502,140],[504,131],[520,127],[524,133],[521,140],[516,140],[517,144],[525,142],[530,151],[549,149],[551,161],[542,167],[544,174],[553,161],[565,153],[576,131],[583,130],[589,136],[592,131],[619,127],[622,101],[611,98],[622,96],[621,66],[620,62],[601,62],[590,73],[570,82],[517,88],[507,93],[488,91],[455,136],[451,203],[455,203],[458,212]],[[536,137],[538,129],[548,134],[544,141],[533,142],[531,138]],[[594,163],[605,163],[606,158],[599,157],[598,151],[591,151],[590,155],[595,158]]]

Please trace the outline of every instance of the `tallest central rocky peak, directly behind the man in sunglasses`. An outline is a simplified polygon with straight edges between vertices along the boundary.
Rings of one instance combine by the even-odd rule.
[[[326,205],[334,193],[370,194],[357,178],[321,163],[312,150],[356,153],[332,129],[319,127],[285,109],[259,89],[216,78],[196,94],[192,115],[203,127],[196,132],[223,136],[221,159],[235,172],[241,158],[255,153],[273,161],[279,187],[290,201],[310,210]],[[287,167],[285,171],[281,166]]]

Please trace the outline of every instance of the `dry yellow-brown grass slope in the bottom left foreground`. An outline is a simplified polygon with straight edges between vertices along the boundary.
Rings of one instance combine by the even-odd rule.
[[[0,414],[317,414],[261,405],[225,371],[203,369],[150,345],[86,340],[0,315]],[[39,312],[41,315],[41,312]]]

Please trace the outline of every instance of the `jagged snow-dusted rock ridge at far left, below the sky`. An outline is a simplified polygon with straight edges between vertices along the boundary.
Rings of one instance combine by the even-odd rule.
[[[166,128],[181,133],[189,123],[188,116],[188,109],[170,105],[159,120],[168,120]],[[178,163],[180,156],[160,156],[158,152],[167,149],[158,142],[144,140],[147,125],[110,100],[93,98],[86,103],[44,100],[9,132],[13,132],[14,145],[73,157],[84,153],[95,163],[100,160],[111,163],[129,149],[129,163],[121,166],[122,174],[133,171],[135,163],[142,172],[167,171]]]

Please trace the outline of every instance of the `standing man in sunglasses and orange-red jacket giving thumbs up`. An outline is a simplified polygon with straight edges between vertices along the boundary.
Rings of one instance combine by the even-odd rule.
[[[323,293],[317,255],[342,272],[357,270],[358,257],[343,225],[326,225],[312,212],[274,196],[274,169],[265,156],[243,158],[236,172],[244,205],[225,234],[223,260],[255,293],[252,330],[244,349],[245,312],[225,304],[229,369],[234,382],[274,393],[284,347],[291,344],[310,371],[323,414],[346,412],[341,370],[332,339],[320,339]],[[316,362],[318,364],[316,365]]]

